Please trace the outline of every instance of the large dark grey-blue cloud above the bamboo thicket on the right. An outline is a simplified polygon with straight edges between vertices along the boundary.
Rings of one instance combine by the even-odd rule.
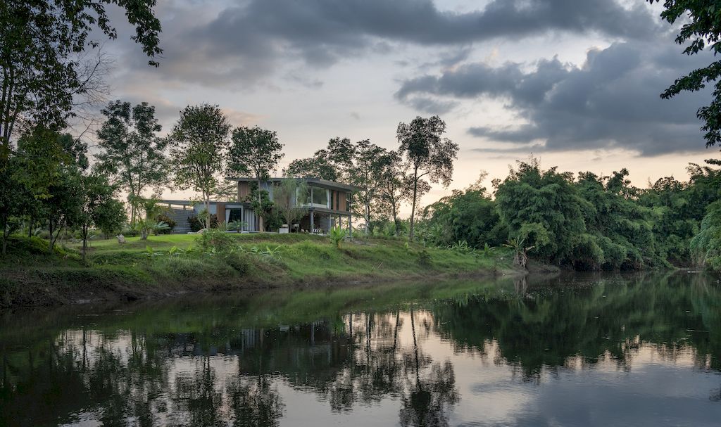
[[[581,67],[541,60],[532,71],[517,63],[482,63],[405,81],[397,99],[501,99],[527,122],[518,127],[479,126],[469,134],[497,142],[534,144],[534,149],[622,147],[643,155],[699,150],[704,144],[696,109],[709,90],[659,98],[675,78],[707,65],[707,55],[688,57],[672,42],[617,42],[590,50]],[[539,141],[544,145],[539,145]],[[508,148],[514,150],[518,148]]]

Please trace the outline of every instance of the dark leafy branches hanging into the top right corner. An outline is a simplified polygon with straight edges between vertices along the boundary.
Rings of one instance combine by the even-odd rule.
[[[648,0],[651,4],[660,0]],[[684,45],[686,55],[696,55],[702,52],[707,43],[711,44],[714,55],[721,52],[721,15],[717,1],[713,0],[665,0],[665,10],[661,17],[674,24],[681,19],[684,25],[678,32],[676,43]],[[676,81],[666,89],[661,98],[669,99],[680,94],[682,91],[699,91],[706,87],[706,84],[716,82],[714,85],[713,99],[711,104],[700,107],[696,111],[696,117],[704,122],[701,127],[705,133],[706,146],[721,145],[721,60],[716,60],[704,68],[697,68],[686,76],[677,78]]]

